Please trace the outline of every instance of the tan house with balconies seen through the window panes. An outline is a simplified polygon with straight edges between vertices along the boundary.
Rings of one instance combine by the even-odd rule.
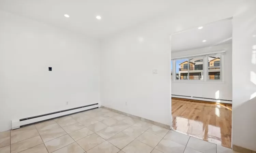
[[[213,67],[209,68],[208,79],[210,80],[219,80],[220,69],[214,66],[220,66],[220,58],[215,56],[209,56],[208,66]],[[189,80],[203,80],[203,59],[192,58],[188,61],[184,61],[179,64],[179,77],[180,80],[188,79],[188,69],[189,69]]]

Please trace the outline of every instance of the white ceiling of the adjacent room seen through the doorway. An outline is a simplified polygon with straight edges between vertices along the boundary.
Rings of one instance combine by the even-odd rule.
[[[221,20],[182,31],[171,36],[171,51],[185,51],[232,42],[232,20]],[[207,40],[206,42],[202,42]]]

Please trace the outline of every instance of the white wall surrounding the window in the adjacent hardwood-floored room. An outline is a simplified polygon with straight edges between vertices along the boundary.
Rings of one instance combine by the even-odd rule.
[[[214,98],[232,100],[232,44],[224,44],[219,46],[200,48],[188,51],[172,52],[172,58],[195,55],[199,53],[207,53],[213,51],[226,50],[224,54],[224,78],[225,82],[207,81],[207,82],[185,82],[184,81],[172,81],[172,93],[173,95],[185,95],[194,97]],[[205,68],[205,66],[204,66]],[[223,67],[222,67],[223,69]],[[177,73],[177,72],[176,72]],[[195,84],[196,83],[196,84]],[[192,90],[184,90],[192,89]],[[218,91],[218,92],[217,92]],[[219,93],[216,97],[215,93]],[[229,101],[223,101],[229,102]],[[230,102],[232,103],[232,102]]]

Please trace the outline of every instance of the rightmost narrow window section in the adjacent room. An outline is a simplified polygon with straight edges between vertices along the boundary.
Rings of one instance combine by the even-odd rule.
[[[208,80],[221,80],[221,56],[208,56]]]

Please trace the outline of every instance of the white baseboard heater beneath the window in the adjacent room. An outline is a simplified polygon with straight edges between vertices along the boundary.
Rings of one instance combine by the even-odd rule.
[[[172,95],[172,98],[183,98],[183,99],[192,99],[192,100],[201,100],[201,101],[209,101],[209,102],[219,102],[219,103],[232,104],[232,100],[225,100],[225,99],[214,99],[214,98],[185,96],[185,95]]]

